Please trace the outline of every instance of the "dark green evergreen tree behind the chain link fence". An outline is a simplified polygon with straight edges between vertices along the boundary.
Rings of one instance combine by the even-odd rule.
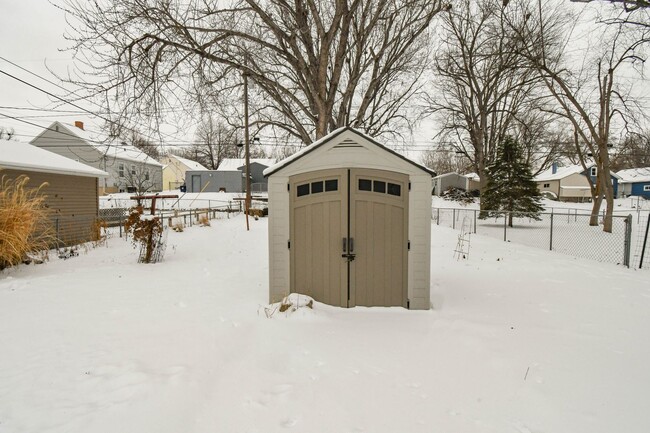
[[[519,143],[507,136],[499,143],[497,155],[487,167],[488,183],[481,195],[483,206],[480,218],[485,219],[501,212],[509,212],[508,226],[513,217],[530,217],[537,221],[544,208],[537,184],[533,180],[530,164],[523,156]]]

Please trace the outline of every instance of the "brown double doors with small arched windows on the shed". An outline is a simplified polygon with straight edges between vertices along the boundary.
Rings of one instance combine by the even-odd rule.
[[[291,292],[342,307],[407,307],[408,176],[323,170],[290,178]]]

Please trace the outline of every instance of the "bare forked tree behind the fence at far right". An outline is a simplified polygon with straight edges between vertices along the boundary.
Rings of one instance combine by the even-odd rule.
[[[593,58],[590,61],[583,59],[582,68],[576,70],[575,66],[572,67],[574,63],[567,59],[566,41],[563,43],[556,35],[545,31],[541,3],[538,12],[529,13],[529,16],[537,16],[537,19],[530,19],[521,27],[519,24],[512,26],[519,35],[518,51],[537,71],[556,101],[557,109],[553,111],[565,117],[573,126],[575,149],[583,167],[586,168],[593,158],[597,180],[592,186],[594,204],[590,225],[598,225],[598,213],[604,198],[607,207],[603,230],[611,232],[614,190],[610,134],[615,118],[626,122],[625,114],[629,114],[627,92],[621,86],[615,86],[615,80],[623,65],[641,60],[638,51],[642,42],[637,38],[628,38],[623,25],[604,26],[598,33],[598,46],[589,47],[588,52],[593,54]],[[535,27],[543,31],[531,30]],[[593,28],[591,32],[595,33]],[[580,153],[582,146],[588,150],[586,154]]]

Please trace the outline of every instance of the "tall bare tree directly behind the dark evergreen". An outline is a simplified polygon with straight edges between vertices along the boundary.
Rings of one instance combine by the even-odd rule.
[[[521,67],[501,1],[462,0],[443,17],[437,91],[428,105],[442,123],[441,139],[471,161],[484,190],[498,143],[526,131],[538,78]]]

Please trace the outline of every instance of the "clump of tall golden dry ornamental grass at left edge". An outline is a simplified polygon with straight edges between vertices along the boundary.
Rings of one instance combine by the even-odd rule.
[[[55,236],[45,207],[45,196],[27,186],[29,177],[0,180],[0,269],[15,266],[29,254],[47,251]]]

